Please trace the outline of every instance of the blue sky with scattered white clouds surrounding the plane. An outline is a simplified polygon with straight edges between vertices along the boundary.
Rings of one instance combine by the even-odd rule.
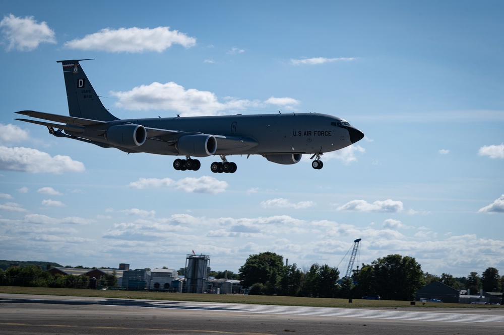
[[[0,258],[237,272],[271,251],[301,268],[390,254],[422,270],[504,272],[504,4],[499,1],[0,0]],[[119,118],[317,112],[365,138],[235,174],[173,170],[56,138],[14,112],[68,114],[82,62]],[[341,272],[346,262],[340,264]],[[504,273],[503,273],[504,274]]]

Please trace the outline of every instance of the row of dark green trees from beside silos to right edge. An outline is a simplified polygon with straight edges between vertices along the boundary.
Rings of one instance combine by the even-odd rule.
[[[340,278],[337,268],[327,264],[312,264],[303,271],[294,263],[285,265],[283,257],[266,252],[250,255],[238,272],[241,284],[249,287],[248,294],[308,296],[323,298],[361,298],[378,294],[382,299],[413,300],[418,289],[439,281],[456,289],[470,288],[472,293],[483,289],[500,292],[504,276],[488,268],[478,276],[471,272],[467,278],[450,274],[435,276],[424,273],[416,260],[409,256],[388,255],[371,264],[362,264],[351,278]]]

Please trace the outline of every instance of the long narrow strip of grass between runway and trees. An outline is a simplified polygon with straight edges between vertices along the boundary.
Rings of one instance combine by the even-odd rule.
[[[348,299],[329,299],[329,298],[233,295],[233,294],[168,293],[168,292],[143,292],[143,291],[103,291],[103,290],[61,289],[61,288],[45,288],[45,287],[21,287],[21,286],[0,286],[0,293],[103,297],[110,299],[120,298],[120,299],[147,299],[147,300],[206,301],[206,302],[312,306],[312,307],[366,307],[366,308],[373,308],[373,307],[499,308],[501,307],[496,305],[469,305],[469,304],[435,303],[435,302],[427,302],[423,304],[418,301],[413,306],[410,304],[409,301],[395,301],[395,300],[352,299],[352,303],[349,303]]]

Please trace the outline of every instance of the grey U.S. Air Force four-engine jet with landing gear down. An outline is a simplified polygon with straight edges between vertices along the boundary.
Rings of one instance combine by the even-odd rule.
[[[66,137],[103,148],[128,153],[147,152],[181,156],[175,170],[197,171],[201,163],[192,157],[219,155],[210,165],[213,173],[234,173],[230,155],[262,155],[278,164],[294,164],[303,154],[312,154],[311,166],[324,166],[325,152],[347,147],[364,137],[347,121],[318,113],[220,115],[121,120],[102,104],[80,62],[90,59],[58,60],[62,64],[70,116],[36,111],[17,114],[46,121],[16,119],[46,126],[56,137]],[[58,123],[53,123],[58,122]],[[315,158],[313,160],[313,158]]]

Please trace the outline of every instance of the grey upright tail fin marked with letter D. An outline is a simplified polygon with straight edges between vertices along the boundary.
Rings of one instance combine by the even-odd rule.
[[[79,64],[81,60],[89,59],[57,61],[63,65],[70,116],[99,121],[117,120],[101,103],[86,73]]]

